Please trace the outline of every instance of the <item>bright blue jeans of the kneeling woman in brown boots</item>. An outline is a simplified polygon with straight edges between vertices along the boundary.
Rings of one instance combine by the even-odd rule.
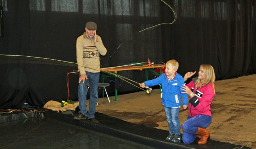
[[[188,116],[188,119],[182,125],[183,135],[182,140],[185,144],[192,143],[196,138],[198,127],[206,128],[211,124],[212,117],[208,115],[198,115],[195,117]]]

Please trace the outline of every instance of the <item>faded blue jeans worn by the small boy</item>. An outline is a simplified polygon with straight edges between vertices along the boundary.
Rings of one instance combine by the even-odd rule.
[[[166,119],[169,126],[169,132],[181,135],[181,125],[179,120],[180,108],[164,107]]]

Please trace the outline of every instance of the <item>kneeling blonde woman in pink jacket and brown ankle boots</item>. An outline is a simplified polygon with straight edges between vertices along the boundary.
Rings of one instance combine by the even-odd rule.
[[[195,72],[188,72],[184,76],[186,81]],[[211,124],[211,101],[215,96],[214,89],[215,74],[214,69],[209,64],[200,66],[198,77],[193,78],[190,83],[182,87],[183,92],[190,96],[189,99],[189,116],[182,125],[183,142],[185,144],[192,143],[196,136],[200,138],[198,144],[205,144],[210,135],[209,130],[205,129]]]

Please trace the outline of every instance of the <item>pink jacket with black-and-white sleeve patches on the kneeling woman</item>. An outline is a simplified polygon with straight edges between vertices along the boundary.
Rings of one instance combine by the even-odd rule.
[[[189,115],[191,117],[197,115],[212,116],[210,105],[215,96],[212,84],[209,83],[207,85],[201,86],[200,88],[196,88],[196,84],[194,83],[196,79],[197,78],[193,78],[193,81],[187,84],[187,86],[191,89],[199,101],[199,104],[197,104],[195,107],[191,104],[191,102],[189,103]]]

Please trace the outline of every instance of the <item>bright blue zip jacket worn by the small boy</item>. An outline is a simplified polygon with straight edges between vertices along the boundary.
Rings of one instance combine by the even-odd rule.
[[[166,74],[162,74],[158,78],[143,82],[145,86],[155,86],[161,84],[162,86],[162,104],[165,107],[180,107],[181,106],[181,95],[183,105],[188,105],[188,94],[181,93],[181,86],[184,84],[184,78],[180,74],[169,82],[166,78]]]

